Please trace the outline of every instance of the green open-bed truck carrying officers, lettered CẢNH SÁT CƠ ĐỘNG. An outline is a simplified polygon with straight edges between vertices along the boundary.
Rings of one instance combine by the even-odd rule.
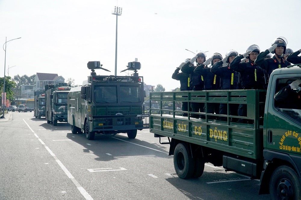
[[[292,66],[273,71],[267,90],[151,92],[150,101],[161,107],[150,111],[150,132],[160,138],[160,143],[161,137],[168,137],[169,155],[173,155],[178,176],[198,178],[204,163],[209,162],[260,179],[259,194],[270,194],[272,199],[300,199],[301,88],[290,90],[294,97],[284,101],[274,98],[278,91],[301,78],[301,68]],[[175,109],[175,102],[204,102],[206,106],[225,103],[228,115],[182,117],[176,114],[180,111]],[[173,104],[173,109],[164,109],[166,103]],[[239,104],[247,105],[246,117],[230,115],[231,105],[237,108]],[[249,123],[234,122],[237,118]]]

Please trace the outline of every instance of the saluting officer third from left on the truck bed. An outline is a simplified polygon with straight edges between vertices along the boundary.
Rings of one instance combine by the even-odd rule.
[[[213,74],[210,71],[210,68],[206,67],[206,65],[209,65],[209,63],[211,62],[211,66],[213,66],[216,62],[219,62],[222,59],[223,57],[221,54],[214,53],[211,58],[207,59],[203,64],[198,65],[194,69],[194,73],[199,74],[203,77],[205,90],[219,90],[220,77],[216,74]],[[206,112],[219,114],[219,104],[208,103]],[[215,119],[215,117],[213,116],[209,116],[208,118]]]

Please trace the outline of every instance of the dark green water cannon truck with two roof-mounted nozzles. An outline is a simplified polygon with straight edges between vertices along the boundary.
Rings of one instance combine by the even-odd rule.
[[[95,69],[104,69],[100,62],[87,65],[92,70],[88,81],[71,88],[68,94],[68,123],[72,133],[85,132],[88,140],[93,140],[95,133],[107,136],[127,133],[129,138],[135,138],[137,130],[148,129],[149,114],[144,114],[142,105],[143,77],[137,73],[140,63],[129,63],[128,70],[135,70],[133,76],[96,75]]]

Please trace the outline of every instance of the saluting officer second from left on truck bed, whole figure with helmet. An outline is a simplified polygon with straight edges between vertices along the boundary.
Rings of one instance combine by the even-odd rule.
[[[203,51],[198,52],[192,59],[190,59],[184,66],[181,71],[185,74],[190,74],[191,77],[191,87],[193,91],[200,91],[204,88],[204,79],[199,74],[194,73],[196,66],[191,64],[197,61],[197,66],[203,64],[206,61],[206,53]],[[204,103],[191,102],[192,112],[203,112]],[[191,114],[191,117],[199,118],[199,114]]]

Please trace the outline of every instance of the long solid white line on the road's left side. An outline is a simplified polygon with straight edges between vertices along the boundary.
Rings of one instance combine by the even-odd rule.
[[[23,121],[26,123],[26,121],[23,119]],[[28,128],[34,133],[36,138],[39,138],[38,135],[33,131],[33,129],[30,128],[30,126],[26,123]],[[39,140],[41,143],[42,140]],[[54,155],[54,153],[49,149],[49,147],[46,146],[46,144],[42,143],[44,147],[47,149],[47,151],[50,153],[51,156],[55,159],[58,165],[62,168],[62,170],[65,172],[65,174],[72,180],[73,184],[76,186],[76,188],[79,190],[79,192],[83,195],[83,197],[87,200],[93,200],[93,198],[89,195],[89,193],[77,182],[77,180],[72,176],[72,174],[68,171],[68,169],[63,165],[63,163]]]

